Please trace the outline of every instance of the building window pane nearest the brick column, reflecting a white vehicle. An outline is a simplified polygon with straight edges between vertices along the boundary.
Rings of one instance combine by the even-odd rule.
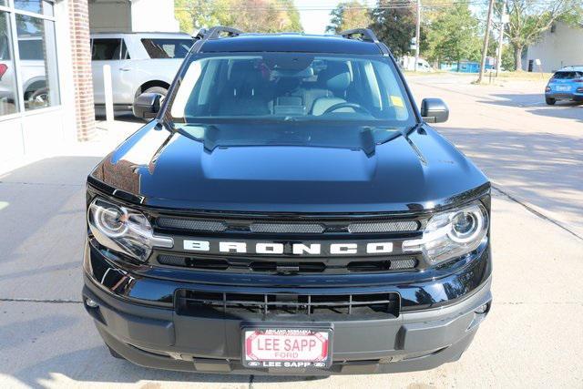
[[[18,49],[25,109],[59,104],[56,67],[55,23],[28,15],[16,15]]]

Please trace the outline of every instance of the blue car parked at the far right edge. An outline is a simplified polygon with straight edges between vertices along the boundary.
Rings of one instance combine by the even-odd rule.
[[[557,100],[583,101],[583,66],[557,70],[545,87],[545,100],[549,106]]]

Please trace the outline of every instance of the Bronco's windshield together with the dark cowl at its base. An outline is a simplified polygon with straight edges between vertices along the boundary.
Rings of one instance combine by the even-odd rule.
[[[299,145],[368,154],[416,123],[393,64],[382,56],[194,57],[166,112],[208,149]]]

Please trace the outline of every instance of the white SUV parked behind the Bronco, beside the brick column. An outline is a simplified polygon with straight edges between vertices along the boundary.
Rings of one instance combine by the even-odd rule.
[[[105,106],[103,66],[111,67],[116,110],[131,109],[144,92],[166,96],[194,39],[182,33],[91,35],[93,91],[97,112]]]

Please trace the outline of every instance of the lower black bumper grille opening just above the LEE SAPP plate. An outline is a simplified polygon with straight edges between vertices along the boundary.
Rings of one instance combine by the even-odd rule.
[[[400,296],[394,292],[358,294],[231,293],[179,290],[180,315],[240,316],[399,316]],[[342,319],[341,319],[342,320]]]

